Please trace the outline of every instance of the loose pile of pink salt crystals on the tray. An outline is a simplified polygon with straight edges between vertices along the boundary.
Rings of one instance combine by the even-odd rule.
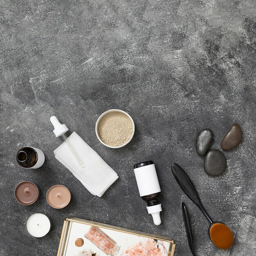
[[[163,256],[161,249],[157,248],[157,243],[153,239],[147,239],[146,243],[139,242],[137,245],[133,245],[125,252],[122,252],[122,256]]]

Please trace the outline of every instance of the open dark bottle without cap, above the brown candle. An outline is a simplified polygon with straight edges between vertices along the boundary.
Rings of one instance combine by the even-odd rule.
[[[39,148],[25,146],[16,155],[18,164],[23,168],[37,169],[45,162],[45,155]]]

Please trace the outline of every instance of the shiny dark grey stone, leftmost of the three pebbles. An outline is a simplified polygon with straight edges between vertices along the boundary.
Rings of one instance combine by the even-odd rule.
[[[210,129],[201,130],[198,132],[196,136],[196,152],[198,155],[205,155],[209,146],[211,145],[211,141],[213,139],[213,132]]]

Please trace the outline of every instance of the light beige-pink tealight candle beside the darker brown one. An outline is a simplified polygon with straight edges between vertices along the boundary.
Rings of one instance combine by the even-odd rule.
[[[54,185],[49,188],[46,199],[51,207],[61,209],[69,204],[71,200],[71,193],[63,185]]]

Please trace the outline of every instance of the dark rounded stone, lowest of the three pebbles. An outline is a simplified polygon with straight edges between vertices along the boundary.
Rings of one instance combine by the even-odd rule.
[[[211,149],[204,157],[204,171],[211,176],[218,176],[227,168],[226,157],[218,149]]]

